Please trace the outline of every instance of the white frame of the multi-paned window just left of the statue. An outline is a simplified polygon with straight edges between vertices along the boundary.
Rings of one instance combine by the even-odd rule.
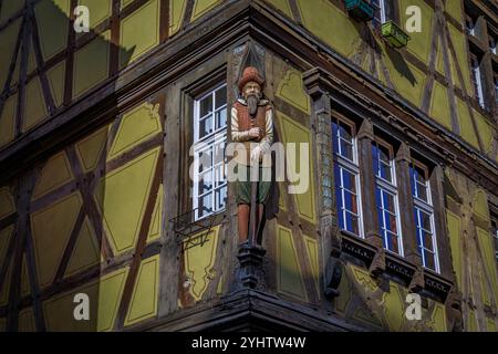
[[[219,90],[227,88],[227,96],[225,100],[225,104],[220,107],[216,107],[216,93]],[[212,119],[212,132],[207,134],[206,136],[203,136],[199,138],[199,126],[200,121],[207,118],[208,115],[200,116],[200,103],[203,100],[208,97],[209,95],[212,96],[212,111],[210,112],[211,119]],[[228,110],[228,84],[225,81],[224,83],[217,83],[214,85],[210,85],[209,88],[204,90],[201,94],[198,94],[193,97],[193,138],[191,138],[191,152],[193,152],[193,167],[194,167],[194,180],[191,186],[191,210],[194,210],[194,221],[203,220],[209,217],[214,217],[220,212],[224,212],[228,205],[228,179],[225,178],[225,181],[218,184],[216,176],[217,171],[221,165],[221,168],[225,173],[225,177],[227,176],[227,158],[225,156],[225,147],[226,144],[228,144],[228,123],[229,123],[229,110]],[[226,110],[226,125],[224,127],[216,128],[216,113],[220,112],[221,110]],[[216,162],[216,147],[218,145],[225,144],[224,147],[224,159],[222,162]],[[211,164],[210,167],[206,170],[199,171],[199,157],[203,154],[203,152],[206,152],[209,149],[209,146],[212,146],[212,156],[211,156]],[[209,188],[208,191],[205,191],[203,194],[199,194],[199,176],[205,175],[207,173],[211,174],[211,188]],[[225,205],[221,208],[217,208],[217,199],[216,194],[218,190],[221,190],[225,187]],[[211,211],[207,214],[203,214],[199,216],[199,200],[200,198],[211,195]]]

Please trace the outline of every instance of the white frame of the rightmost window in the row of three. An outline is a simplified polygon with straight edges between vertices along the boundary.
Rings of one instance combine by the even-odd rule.
[[[412,168],[415,169],[415,165],[412,165],[412,166],[413,166]],[[419,225],[421,228],[422,228],[422,220],[421,220],[419,214],[417,212],[417,225],[415,225],[415,230],[416,230],[416,237],[419,238],[419,241],[421,241],[421,244],[422,244],[422,254],[421,254],[421,257],[422,257],[422,266],[424,268],[426,268],[426,269],[435,271],[436,273],[440,273],[439,252],[438,252],[438,248],[437,248],[436,223],[435,223],[435,220],[434,220],[434,206],[433,206],[433,194],[432,194],[432,189],[430,189],[430,181],[428,179],[425,180],[425,190],[426,190],[426,196],[427,196],[427,201],[426,201],[426,200],[424,200],[424,199],[418,197],[418,186],[417,186],[418,183],[413,176],[412,176],[412,179],[413,179],[413,181],[415,184],[414,185],[415,195],[412,195],[413,196],[413,201],[414,201],[414,208],[418,208],[423,212],[429,215],[430,229],[432,229],[432,230],[426,230],[426,231],[429,231],[430,235],[432,235],[433,251],[430,251],[430,250],[425,248],[424,238],[421,238],[421,235],[418,233],[417,225]],[[417,243],[417,248],[418,248],[418,243]],[[430,269],[430,268],[426,267],[425,250],[434,253],[434,267],[435,267],[435,269]]]

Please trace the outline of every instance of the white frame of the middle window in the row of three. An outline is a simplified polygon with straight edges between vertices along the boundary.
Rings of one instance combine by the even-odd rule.
[[[374,144],[378,146],[383,146],[383,144],[374,140]],[[378,159],[378,164],[381,164],[381,159]],[[391,167],[391,180],[388,181],[387,179],[381,177],[377,175],[378,173],[378,165],[375,166],[375,188],[378,188],[381,190],[381,210],[378,210],[378,206],[376,205],[376,200],[375,200],[375,208],[377,209],[377,212],[381,211],[382,212],[382,222],[383,225],[380,225],[381,230],[383,230],[383,239],[384,239],[384,243],[385,243],[385,250],[387,252],[391,252],[393,254],[397,254],[401,257],[404,257],[405,252],[404,252],[404,248],[403,248],[403,232],[402,232],[402,228],[401,228],[401,216],[400,216],[400,199],[398,199],[398,194],[397,194],[397,183],[396,183],[396,164],[395,164],[395,159],[391,158],[390,156],[390,167]],[[396,218],[396,229],[397,229],[397,235],[387,230],[385,228],[386,226],[386,220],[385,220],[385,212],[392,214],[390,210],[385,209],[384,207],[384,198],[383,198],[383,192],[386,192],[388,195],[391,195],[394,199],[394,212],[395,218]],[[392,250],[388,249],[388,242],[387,242],[387,237],[391,235],[396,235],[397,236],[397,240],[398,240],[398,249],[400,249],[400,253],[396,253]]]

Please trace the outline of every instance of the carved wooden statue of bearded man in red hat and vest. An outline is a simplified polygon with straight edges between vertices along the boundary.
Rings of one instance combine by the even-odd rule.
[[[238,149],[239,153],[235,156],[237,176],[245,176],[243,179],[236,180],[240,243],[247,242],[249,238],[251,185],[257,187],[253,230],[259,229],[271,186],[269,152],[273,142],[273,110],[270,102],[263,98],[263,87],[264,79],[258,70],[252,66],[246,67],[238,83],[241,96],[231,108],[231,139],[243,144],[243,154],[240,154]],[[258,175],[255,168],[259,169]],[[251,184],[251,176],[258,176],[257,183]],[[252,241],[256,242],[256,240]]]

